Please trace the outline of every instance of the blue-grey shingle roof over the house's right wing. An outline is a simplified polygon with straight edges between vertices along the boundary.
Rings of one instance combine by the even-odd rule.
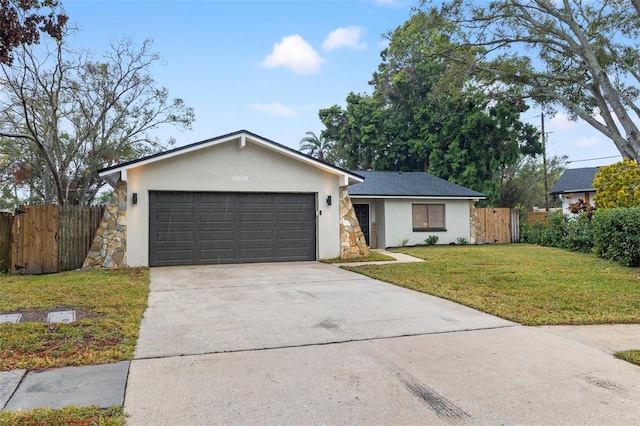
[[[484,194],[423,172],[353,171],[363,183],[349,186],[351,196],[485,198]]]

